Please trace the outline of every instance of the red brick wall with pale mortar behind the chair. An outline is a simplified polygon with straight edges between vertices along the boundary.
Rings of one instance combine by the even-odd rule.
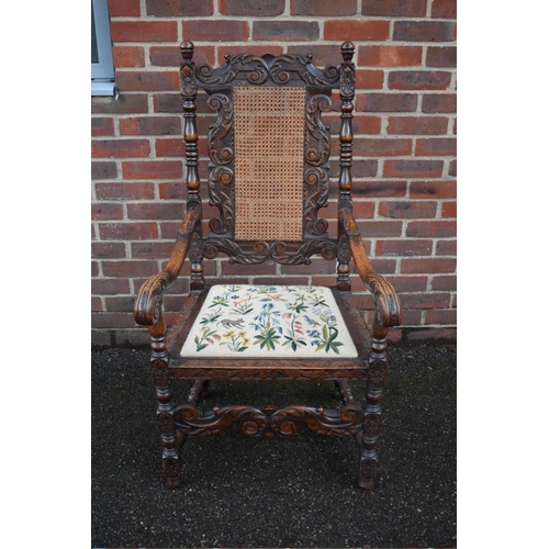
[[[374,268],[394,284],[403,325],[393,339],[456,337],[456,0],[111,0],[114,98],[92,98],[92,343],[141,344],[132,309],[141,283],[166,265],[183,212],[184,144],[179,44],[194,60],[226,53],[312,53],[340,61],[356,45],[355,213]],[[335,135],[339,99],[326,116]],[[202,136],[213,117],[199,96]],[[202,144],[203,145],[203,144]],[[205,150],[200,148],[202,180]],[[205,198],[205,194],[204,194]],[[205,215],[215,213],[205,209]],[[324,210],[334,227],[334,199]],[[248,270],[205,261],[216,281],[333,283],[335,265]],[[167,296],[167,318],[188,291],[182,277]],[[371,307],[358,277],[354,289]]]

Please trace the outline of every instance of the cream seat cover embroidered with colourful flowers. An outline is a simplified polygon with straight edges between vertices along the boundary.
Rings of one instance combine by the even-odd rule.
[[[226,285],[210,290],[182,357],[357,357],[329,288]]]

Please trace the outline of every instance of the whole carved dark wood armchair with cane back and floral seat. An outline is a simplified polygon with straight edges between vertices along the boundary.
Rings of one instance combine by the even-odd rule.
[[[221,434],[231,426],[244,435],[293,435],[307,427],[321,435],[352,436],[359,449],[358,483],[373,486],[385,379],[386,335],[401,322],[392,285],[372,269],[352,216],[351,146],[355,46],[341,45],[339,67],[315,67],[311,55],[226,56],[222,67],[197,67],[194,46],[181,44],[180,80],[184,110],[187,213],[166,269],[141,288],[134,315],[150,334],[150,369],[158,397],[163,472],[169,488],[181,484],[179,451],[190,435]],[[219,217],[202,234],[198,176],[197,88],[217,112],[208,146],[210,203]],[[339,190],[337,237],[327,236],[318,216],[327,205],[328,127],[322,112],[339,90]],[[219,254],[250,267],[264,261],[337,259],[334,287],[215,284],[203,276],[203,260]],[[190,292],[167,330],[163,295],[191,264]],[[373,294],[369,328],[350,292],[350,261]],[[170,384],[194,380],[188,401],[176,406]],[[199,406],[211,380],[333,380],[337,410],[305,405]],[[351,392],[367,384],[366,402]]]

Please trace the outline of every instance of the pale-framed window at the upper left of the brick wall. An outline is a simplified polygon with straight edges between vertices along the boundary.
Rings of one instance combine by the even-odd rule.
[[[91,0],[91,94],[114,96],[114,64],[107,0]]]

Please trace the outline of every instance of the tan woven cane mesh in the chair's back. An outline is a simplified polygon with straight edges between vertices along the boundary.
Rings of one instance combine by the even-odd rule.
[[[303,238],[305,88],[235,87],[235,238]]]

